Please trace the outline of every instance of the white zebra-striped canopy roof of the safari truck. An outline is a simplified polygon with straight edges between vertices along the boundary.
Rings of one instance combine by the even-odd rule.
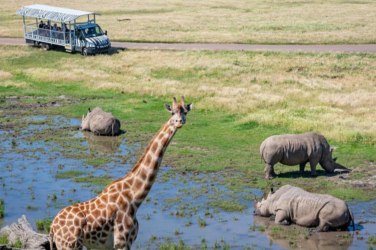
[[[23,6],[22,8],[16,11],[16,14],[66,22],[66,21],[72,21],[82,15],[97,14],[97,13],[70,9],[70,8],[60,8],[60,7],[48,6],[48,5],[42,5],[42,4],[33,4],[33,5]]]

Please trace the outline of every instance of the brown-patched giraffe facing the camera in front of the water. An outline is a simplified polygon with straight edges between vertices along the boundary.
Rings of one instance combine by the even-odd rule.
[[[95,198],[62,209],[50,227],[53,240],[60,249],[130,249],[136,239],[136,212],[155,180],[163,154],[178,128],[185,123],[193,103],[185,105],[172,98],[172,106],[164,104],[171,117],[151,139],[133,169],[112,181]]]

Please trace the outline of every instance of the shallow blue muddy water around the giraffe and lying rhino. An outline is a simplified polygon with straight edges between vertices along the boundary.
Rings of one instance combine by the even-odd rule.
[[[54,217],[61,208],[88,200],[103,189],[90,183],[73,182],[73,177],[55,178],[59,172],[76,170],[83,171],[82,176],[108,174],[117,178],[125,175],[136,161],[124,156],[132,155],[139,145],[127,145],[126,139],[118,137],[82,132],[77,129],[80,120],[63,116],[33,116],[27,120],[36,122],[28,125],[22,134],[0,130],[0,188],[6,202],[6,216],[0,221],[3,226],[17,221],[22,214],[34,225],[36,219]],[[43,133],[47,131],[54,136],[59,129],[65,129],[57,137],[63,136],[66,143]],[[89,156],[80,157],[80,154]],[[101,164],[87,161],[93,155],[108,160]],[[252,215],[253,201],[247,197],[252,193],[262,195],[260,190],[236,193],[242,204],[248,206],[242,212],[211,207],[208,202],[234,197],[233,192],[216,183],[216,177],[214,174],[175,174],[173,169],[162,166],[148,198],[137,212],[139,232],[133,248],[157,248],[159,243],[181,239],[195,248],[217,245],[233,249],[364,249],[368,246],[367,234],[376,232],[376,224],[364,223],[357,225],[360,229],[357,231],[316,233],[308,239],[303,236],[304,228],[296,225],[283,226],[276,233],[268,218]],[[376,201],[349,202],[349,206],[355,222],[376,221]],[[206,225],[200,225],[199,218]],[[292,233],[284,233],[289,230]]]

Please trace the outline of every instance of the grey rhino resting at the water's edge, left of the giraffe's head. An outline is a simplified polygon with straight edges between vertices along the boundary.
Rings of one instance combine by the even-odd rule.
[[[82,130],[89,130],[97,135],[118,134],[120,131],[120,121],[112,113],[105,112],[102,108],[96,107],[87,112],[86,117],[82,115]]]

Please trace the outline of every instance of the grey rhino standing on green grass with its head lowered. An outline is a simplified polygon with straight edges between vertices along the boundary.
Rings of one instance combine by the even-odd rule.
[[[322,134],[308,132],[302,134],[280,134],[266,138],[260,146],[261,158],[265,161],[265,178],[276,176],[274,164],[280,162],[284,165],[299,165],[301,174],[307,162],[311,166],[311,176],[317,176],[316,165],[332,173],[334,169],[347,169],[332,158],[336,147],[329,146]]]

